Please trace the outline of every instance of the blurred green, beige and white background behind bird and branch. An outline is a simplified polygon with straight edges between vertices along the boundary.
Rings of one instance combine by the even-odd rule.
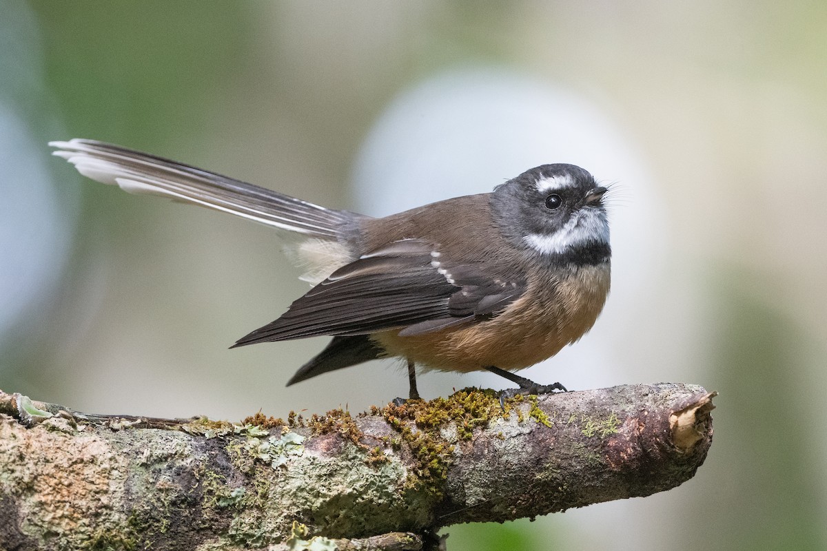
[[[271,230],[90,183],[48,140],[108,140],[381,215],[394,204],[381,197],[420,194],[398,183],[399,167],[433,167],[422,197],[428,184],[461,192],[439,174],[479,170],[487,191],[528,169],[511,169],[525,148],[508,146],[530,128],[529,143],[562,144],[537,164],[585,159],[619,191],[605,316],[527,374],[570,388],[700,383],[720,392],[715,443],[670,492],[455,526],[449,549],[827,549],[825,2],[0,8],[4,391],[232,420],[362,411],[406,392],[393,363],[285,389],[323,340],[227,350],[307,288]],[[500,149],[475,150],[481,131],[466,123],[428,130],[449,96],[485,89],[508,113],[526,86],[547,87],[560,111],[538,108],[523,130],[503,130],[516,116],[486,123]],[[492,111],[460,103],[469,121]],[[406,115],[390,116],[394,105]],[[405,145],[414,132],[427,140]],[[425,154],[431,138],[448,161]],[[490,169],[497,157],[509,168]],[[503,386],[426,374],[420,389],[471,384]]]

